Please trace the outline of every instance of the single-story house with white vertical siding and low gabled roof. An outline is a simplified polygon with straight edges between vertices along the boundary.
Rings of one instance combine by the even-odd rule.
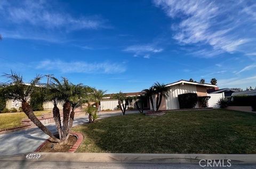
[[[161,106],[159,110],[172,110],[179,109],[179,100],[178,95],[184,93],[197,93],[198,96],[207,96],[207,89],[212,87],[217,87],[217,85],[198,83],[198,82],[189,82],[185,80],[180,80],[178,82],[166,84],[166,87],[169,88],[168,96],[165,99],[162,99]],[[129,100],[129,96],[138,96],[141,92],[134,93],[124,93],[127,96],[125,102],[128,104],[127,107],[135,108],[135,98]],[[155,105],[156,95],[154,96],[154,105]],[[116,110],[118,105],[118,100],[111,99],[110,95],[107,95],[100,101],[101,110]],[[144,104],[145,108],[150,108],[151,104],[149,100]],[[156,106],[154,106],[156,107]],[[198,104],[196,105],[198,107]]]

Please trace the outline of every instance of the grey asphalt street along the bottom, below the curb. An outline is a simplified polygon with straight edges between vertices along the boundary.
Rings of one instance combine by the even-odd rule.
[[[166,169],[202,169],[202,168],[256,168],[253,164],[234,164],[231,167],[201,167],[198,164],[168,163],[85,163],[85,162],[44,162],[44,161],[8,161],[0,160],[0,168],[166,168]]]

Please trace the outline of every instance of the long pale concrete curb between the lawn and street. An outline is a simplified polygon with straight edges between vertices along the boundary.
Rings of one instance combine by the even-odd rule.
[[[256,164],[256,154],[118,154],[118,153],[69,153],[39,152],[39,159],[26,159],[26,154],[4,157],[1,160],[54,161],[87,163],[172,163],[198,164],[201,159],[231,160],[231,164]]]

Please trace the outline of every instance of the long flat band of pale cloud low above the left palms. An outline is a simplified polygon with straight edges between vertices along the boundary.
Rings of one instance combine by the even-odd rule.
[[[44,60],[37,64],[36,69],[57,70],[61,73],[117,74],[123,73],[124,65],[113,62],[88,63],[83,61],[65,62],[61,60]]]

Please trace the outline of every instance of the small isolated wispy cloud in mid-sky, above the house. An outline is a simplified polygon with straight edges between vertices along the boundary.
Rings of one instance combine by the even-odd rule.
[[[163,49],[152,44],[147,44],[128,46],[123,51],[133,53],[133,57],[143,56],[143,58],[149,59],[151,54],[162,52]]]

